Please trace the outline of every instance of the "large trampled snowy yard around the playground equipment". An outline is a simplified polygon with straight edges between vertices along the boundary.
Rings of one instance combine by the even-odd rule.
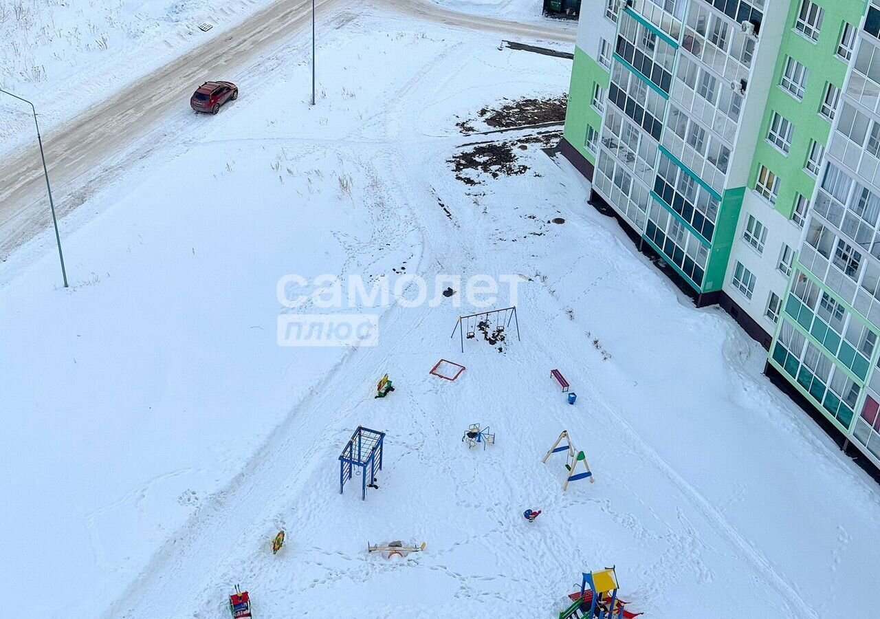
[[[555,617],[612,564],[646,619],[876,615],[876,484],[764,351],[587,206],[537,130],[502,134],[523,173],[455,178],[463,144],[500,139],[457,122],[568,90],[569,61],[499,38],[366,11],[323,38],[315,108],[303,38],[62,222],[69,290],[46,235],[0,264],[0,578],[30,616],[223,617],[240,583],[260,619]],[[277,345],[283,276],[401,273],[517,276],[522,341],[462,354],[459,294],[332,310],[378,314],[376,347]],[[466,372],[429,375],[441,357]],[[494,446],[462,444],[475,423]],[[358,424],[387,432],[364,502],[338,488]],[[565,493],[564,458],[541,464],[562,430],[596,479]],[[428,546],[366,552],[397,539]]]

